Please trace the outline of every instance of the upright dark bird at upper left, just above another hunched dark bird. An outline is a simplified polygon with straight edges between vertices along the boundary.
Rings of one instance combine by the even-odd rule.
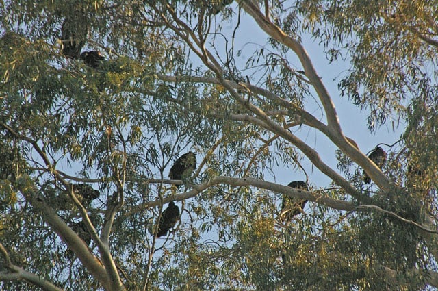
[[[62,54],[66,58],[79,59],[86,36],[87,28],[83,23],[66,18],[61,27]]]

